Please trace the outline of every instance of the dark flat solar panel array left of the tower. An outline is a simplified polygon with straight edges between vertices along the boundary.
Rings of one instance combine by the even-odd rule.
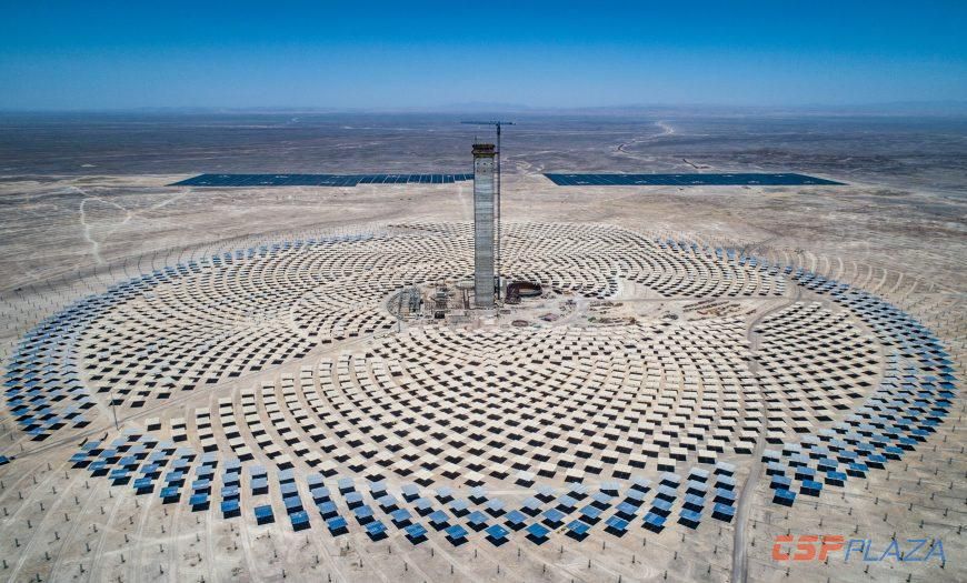
[[[452,184],[473,174],[201,174],[171,187],[355,187],[357,184]]]

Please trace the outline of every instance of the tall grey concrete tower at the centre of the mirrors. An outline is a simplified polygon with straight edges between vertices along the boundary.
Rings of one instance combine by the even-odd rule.
[[[494,308],[494,251],[497,150],[492,143],[473,144],[473,305]]]

